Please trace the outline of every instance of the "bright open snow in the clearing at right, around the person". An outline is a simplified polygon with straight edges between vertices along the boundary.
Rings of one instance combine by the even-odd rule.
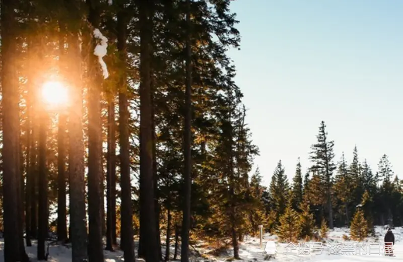
[[[245,237],[244,241],[240,243],[239,255],[242,260],[248,262],[267,260],[279,262],[403,261],[403,228],[396,227],[392,231],[395,237],[395,244],[393,246],[393,253],[395,256],[393,257],[384,255],[383,237],[386,233],[386,229],[384,229],[383,227],[376,227],[375,237],[369,237],[361,243],[352,240],[344,240],[343,235],[345,235],[345,237],[350,236],[349,228],[335,228],[328,232],[326,243],[320,244],[314,241],[310,241],[307,243],[300,242],[299,247],[297,243],[294,243],[296,246],[296,249],[294,250],[290,249],[290,243],[279,243],[276,235],[265,234],[263,236],[261,248],[259,246],[258,237]],[[277,252],[275,256],[267,255],[264,253],[266,243],[271,241],[274,241],[276,243]],[[300,250],[300,253],[298,253],[298,248]],[[356,252],[344,252],[355,250],[355,248]],[[339,252],[337,252],[338,249]],[[222,255],[211,259],[216,261],[232,260],[232,251],[232,249],[227,250],[226,252],[223,252]]]

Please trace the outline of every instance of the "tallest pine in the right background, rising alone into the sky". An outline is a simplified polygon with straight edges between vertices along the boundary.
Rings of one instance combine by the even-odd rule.
[[[316,136],[317,143],[311,146],[312,152],[310,159],[314,162],[311,170],[314,170],[320,175],[323,182],[323,190],[326,193],[326,208],[328,213],[328,221],[330,229],[333,228],[333,210],[331,201],[331,180],[333,171],[336,168],[333,163],[334,142],[327,139],[326,125],[324,121],[320,123],[319,134]]]

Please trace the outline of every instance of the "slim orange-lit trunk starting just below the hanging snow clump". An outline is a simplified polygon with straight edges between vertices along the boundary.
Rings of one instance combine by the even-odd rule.
[[[115,103],[114,96],[108,99],[108,138],[107,138],[107,159],[106,159],[106,250],[113,251],[113,244],[116,237],[116,162],[115,162]],[[115,223],[115,225],[113,225]],[[113,230],[114,234],[113,234]]]

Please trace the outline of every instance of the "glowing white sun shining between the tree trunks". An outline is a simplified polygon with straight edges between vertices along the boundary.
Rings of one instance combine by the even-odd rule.
[[[61,82],[47,81],[42,85],[41,98],[47,106],[60,108],[68,104],[69,92]]]

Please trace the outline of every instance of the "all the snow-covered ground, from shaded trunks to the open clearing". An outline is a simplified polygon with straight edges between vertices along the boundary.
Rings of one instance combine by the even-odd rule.
[[[393,253],[395,256],[385,256],[383,250],[383,236],[386,230],[382,227],[376,227],[376,237],[370,237],[364,242],[357,243],[351,240],[344,240],[343,235],[349,236],[348,228],[335,228],[330,230],[326,243],[319,244],[318,242],[300,242],[299,246],[294,243],[297,249],[290,249],[289,243],[278,243],[277,236],[265,234],[263,236],[263,244],[260,248],[258,237],[244,238],[240,243],[239,255],[242,260],[247,262],[253,261],[312,261],[312,262],[386,262],[386,261],[403,261],[403,228],[398,227],[393,229],[395,236],[395,245]],[[270,256],[264,253],[264,247],[267,242],[276,246],[277,253],[275,256]],[[3,239],[0,239],[0,262],[3,261]],[[271,245],[269,244],[269,245]],[[359,247],[361,245],[361,249]],[[137,246],[137,243],[136,243]],[[173,245],[171,245],[171,255],[173,254]],[[299,248],[299,251],[298,251]],[[32,247],[27,247],[27,252],[32,261],[36,261],[36,243]],[[210,261],[231,261],[232,250],[223,250],[219,255],[212,255],[213,248],[203,243],[197,243],[190,248],[194,257],[191,260],[203,262]],[[272,248],[273,249],[273,248]],[[196,252],[194,250],[197,250]],[[355,250],[355,251],[353,251]],[[337,251],[339,254],[337,254]],[[345,252],[346,251],[346,252]],[[163,253],[164,253],[163,248]],[[299,252],[299,253],[298,253]],[[123,261],[123,253],[120,250],[115,252],[104,251],[106,262]],[[180,255],[180,252],[179,254]],[[200,256],[201,255],[201,256]],[[65,246],[50,246],[49,258],[50,262],[68,262],[71,261],[71,249]]]

